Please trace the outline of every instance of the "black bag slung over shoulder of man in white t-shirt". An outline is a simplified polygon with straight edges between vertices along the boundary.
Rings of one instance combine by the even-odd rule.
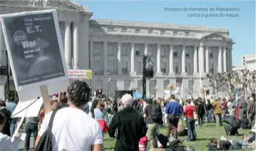
[[[36,145],[34,151],[51,151],[52,150],[52,123],[57,111],[58,111],[57,109],[52,111],[48,128],[44,132],[44,134],[41,136],[40,141]]]

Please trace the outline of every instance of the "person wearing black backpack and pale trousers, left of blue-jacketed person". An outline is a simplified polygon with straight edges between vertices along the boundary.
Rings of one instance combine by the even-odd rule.
[[[159,125],[163,124],[163,113],[159,104],[152,99],[147,99],[147,106],[144,109],[143,117],[147,119],[147,138],[150,141],[150,150],[154,150],[154,140],[157,141],[157,148],[162,148],[159,139],[157,138],[157,132],[159,131]]]

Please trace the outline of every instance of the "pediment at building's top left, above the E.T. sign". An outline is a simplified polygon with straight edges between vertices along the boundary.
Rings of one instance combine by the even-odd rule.
[[[35,8],[60,8],[63,10],[77,10],[83,11],[84,8],[77,4],[71,3],[68,0],[19,0],[19,1],[0,1],[0,5],[8,6],[23,6],[23,7],[35,7]]]

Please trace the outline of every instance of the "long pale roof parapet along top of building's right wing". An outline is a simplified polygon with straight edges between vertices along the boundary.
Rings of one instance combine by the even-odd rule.
[[[160,24],[153,22],[132,22],[124,20],[106,20],[106,19],[90,19],[90,25],[106,25],[106,26],[131,26],[137,28],[154,28],[154,29],[177,29],[186,31],[217,31],[220,33],[228,33],[228,29],[223,28],[209,28],[205,26],[188,26],[178,24]]]

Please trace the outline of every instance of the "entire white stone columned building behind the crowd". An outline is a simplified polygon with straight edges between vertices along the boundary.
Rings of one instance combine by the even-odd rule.
[[[0,14],[56,9],[68,69],[93,70],[93,79],[85,81],[92,88],[102,87],[106,94],[109,91],[110,96],[113,88],[138,88],[142,93],[143,54],[150,54],[154,62],[154,78],[147,80],[147,95],[154,95],[153,89],[157,88],[157,97],[164,96],[168,84],[176,86],[176,77],[183,77],[180,97],[189,95],[191,88],[195,89],[193,96],[200,96],[205,72],[232,70],[234,42],[228,29],[94,20],[89,19],[93,13],[86,7],[65,0],[47,2],[1,1]],[[1,29],[0,49],[5,49]],[[6,65],[4,55],[0,63]],[[0,76],[0,80],[3,99],[6,76]]]

